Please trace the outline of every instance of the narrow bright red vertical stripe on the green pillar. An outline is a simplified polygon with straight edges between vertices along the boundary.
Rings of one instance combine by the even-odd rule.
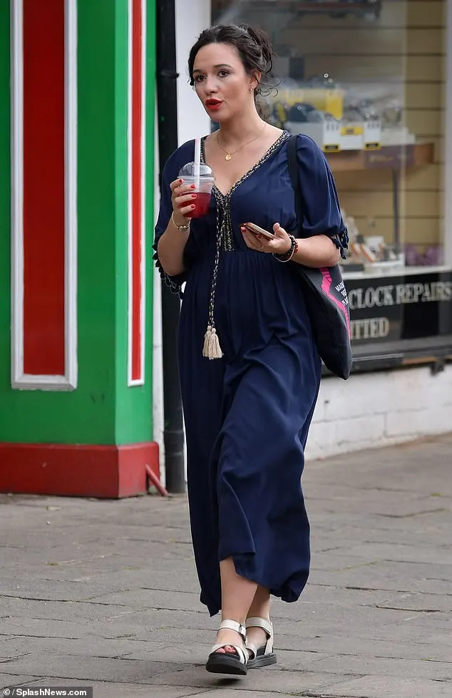
[[[132,4],[132,375],[133,381],[141,375],[141,236],[143,225],[142,149],[143,143],[143,26],[142,0]]]

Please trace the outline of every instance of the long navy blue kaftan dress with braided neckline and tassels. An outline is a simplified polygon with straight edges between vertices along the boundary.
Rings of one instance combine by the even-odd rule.
[[[284,132],[225,196],[217,188],[207,216],[193,220],[179,329],[179,370],[188,453],[188,497],[200,599],[221,608],[219,561],[295,601],[309,574],[309,522],[301,476],[319,391],[321,361],[293,263],[248,249],[240,223],[297,231]],[[345,239],[327,160],[307,136],[297,139],[304,199],[302,237]],[[170,182],[194,159],[194,141],[171,155],[163,173],[154,249],[172,213]],[[217,235],[222,233],[215,327],[224,356],[202,356]],[[182,233],[181,233],[182,235]],[[299,234],[300,235],[300,234]],[[336,243],[338,246],[340,242]]]

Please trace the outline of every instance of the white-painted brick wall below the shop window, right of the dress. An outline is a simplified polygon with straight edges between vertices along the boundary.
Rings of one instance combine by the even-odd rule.
[[[307,443],[307,458],[390,446],[452,431],[452,366],[327,378]]]

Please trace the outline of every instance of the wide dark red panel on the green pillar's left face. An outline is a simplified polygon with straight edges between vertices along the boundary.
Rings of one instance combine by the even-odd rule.
[[[64,0],[24,0],[24,373],[63,375]]]

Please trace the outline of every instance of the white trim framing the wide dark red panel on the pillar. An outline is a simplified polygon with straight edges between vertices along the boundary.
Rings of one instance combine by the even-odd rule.
[[[24,374],[24,5],[11,4],[11,387],[77,387],[77,0],[65,1],[64,376]]]

